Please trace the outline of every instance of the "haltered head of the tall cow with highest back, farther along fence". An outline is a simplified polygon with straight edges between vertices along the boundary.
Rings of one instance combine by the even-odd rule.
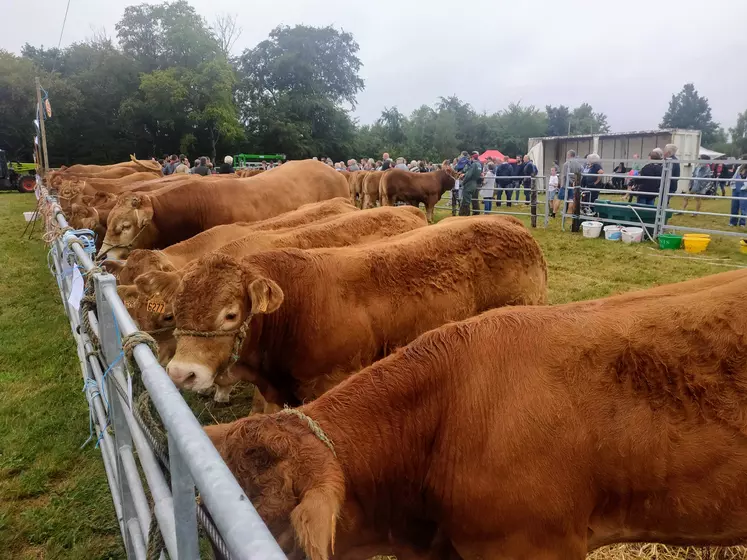
[[[106,221],[106,237],[98,256],[124,259],[132,249],[148,249],[157,231],[153,225],[153,204],[147,194],[120,195]]]

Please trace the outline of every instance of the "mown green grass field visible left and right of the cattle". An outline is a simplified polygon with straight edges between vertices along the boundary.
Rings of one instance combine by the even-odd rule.
[[[34,203],[29,195],[0,193],[0,558],[123,558],[100,452],[92,444],[79,449],[88,437],[88,411],[73,339],[46,268],[46,249],[38,235],[21,239],[21,212]],[[712,202],[704,210],[724,212],[724,205]],[[694,221],[676,216],[671,223]],[[712,227],[726,219],[697,221]],[[690,258],[650,243],[584,239],[559,231],[559,224],[556,218],[547,230],[533,230],[549,264],[551,303],[747,266],[736,238],[716,238],[706,253]],[[211,409],[205,404],[197,410],[203,422],[214,417]],[[220,412],[228,419],[234,414],[233,407]],[[606,549],[593,558],[696,559],[703,554],[649,545]],[[711,556],[737,557],[746,557],[744,549]]]

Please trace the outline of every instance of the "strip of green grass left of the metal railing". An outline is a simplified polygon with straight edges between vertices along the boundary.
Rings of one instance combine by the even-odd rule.
[[[0,558],[124,558],[35,202],[0,193]]]

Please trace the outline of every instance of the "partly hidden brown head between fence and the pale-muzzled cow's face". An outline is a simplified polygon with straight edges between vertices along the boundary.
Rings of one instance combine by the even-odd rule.
[[[146,296],[134,285],[117,286],[117,294],[140,330],[156,340],[158,362],[165,366],[176,351],[173,306],[158,296]]]

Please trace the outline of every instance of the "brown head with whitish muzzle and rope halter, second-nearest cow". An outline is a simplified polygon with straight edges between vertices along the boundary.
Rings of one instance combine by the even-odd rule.
[[[146,294],[173,296],[177,346],[166,370],[178,387],[193,391],[208,389],[215,376],[232,365],[236,331],[250,314],[242,348],[247,352],[256,345],[261,315],[277,311],[284,297],[273,280],[220,254],[206,255],[178,272],[143,274],[136,283]]]

